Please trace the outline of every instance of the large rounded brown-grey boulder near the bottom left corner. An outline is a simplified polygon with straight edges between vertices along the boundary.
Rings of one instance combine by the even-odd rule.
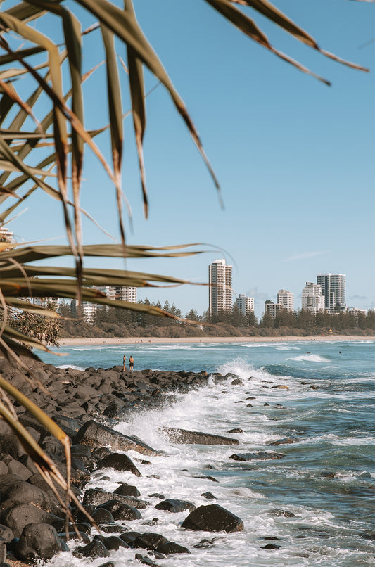
[[[33,559],[51,559],[61,552],[62,546],[58,533],[52,525],[29,523],[23,528],[15,552],[23,561]]]

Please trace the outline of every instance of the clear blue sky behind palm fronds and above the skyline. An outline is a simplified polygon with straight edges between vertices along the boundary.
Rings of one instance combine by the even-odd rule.
[[[147,99],[147,221],[132,120],[125,120],[123,189],[134,226],[131,231],[127,222],[127,239],[160,246],[205,243],[202,248],[210,252],[184,260],[128,261],[127,267],[207,282],[208,264],[226,257],[234,265],[234,292],[253,295],[258,316],[279,288],[295,293],[295,307],[300,307],[305,281],[316,281],[320,272],[343,273],[348,305],[369,309],[375,307],[374,6],[345,0],[275,4],[324,49],[371,72],[324,58],[247,11],[274,46],[329,79],[332,86],[326,87],[252,42],[202,0],[134,3],[201,135],[224,209],[169,95],[159,86]],[[101,58],[98,35],[88,42],[84,70]],[[147,89],[155,84],[146,72]],[[104,85],[101,68],[87,84],[88,127],[108,122]],[[129,108],[125,79],[124,108]],[[109,155],[105,136],[101,144]],[[84,178],[82,204],[118,238],[115,191],[90,156]],[[42,196],[30,205],[11,224],[19,238],[63,236],[56,205]],[[84,222],[86,243],[103,239]],[[191,307],[198,312],[208,307],[205,287],[139,291],[139,298],[146,295],[162,304],[175,302],[183,314]]]

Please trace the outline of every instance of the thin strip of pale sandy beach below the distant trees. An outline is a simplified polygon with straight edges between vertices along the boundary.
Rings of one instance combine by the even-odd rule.
[[[294,343],[312,341],[375,340],[375,336],[312,335],[284,337],[75,337],[63,338],[61,347],[93,345],[184,344],[184,343]]]

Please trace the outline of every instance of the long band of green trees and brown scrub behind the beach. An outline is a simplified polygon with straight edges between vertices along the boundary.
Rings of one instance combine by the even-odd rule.
[[[150,305],[148,300],[145,303]],[[182,312],[168,301],[155,307],[181,317]],[[115,307],[104,307],[96,310],[95,319],[89,324],[83,319],[71,319],[68,304],[59,307],[58,312],[67,317],[61,322],[59,335],[68,337],[224,337],[224,336],[312,336],[330,333],[341,335],[371,336],[375,331],[375,312],[367,314],[319,313],[314,315],[308,311],[281,311],[276,319],[269,314],[258,321],[253,312],[243,317],[234,305],[231,312],[222,312],[215,317],[209,312],[199,315],[194,309],[185,314],[185,319],[193,321],[189,324],[175,319],[160,319],[143,312],[118,310]]]

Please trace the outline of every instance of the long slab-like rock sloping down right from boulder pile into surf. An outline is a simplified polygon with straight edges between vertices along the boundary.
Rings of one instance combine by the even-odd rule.
[[[82,443],[82,445],[88,447],[110,447],[113,451],[134,450],[147,455],[158,454],[158,451],[146,445],[139,438],[127,437],[127,435],[101,425],[101,423],[96,423],[96,421],[84,423],[74,442]]]

